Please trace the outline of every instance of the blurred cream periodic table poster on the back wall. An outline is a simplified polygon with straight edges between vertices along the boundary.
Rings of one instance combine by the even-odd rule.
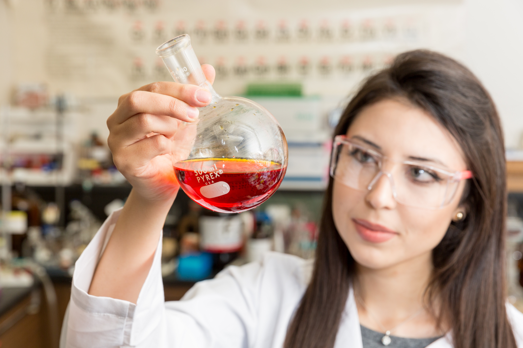
[[[343,96],[399,52],[459,59],[464,40],[460,1],[42,1],[50,88],[88,98],[171,80],[155,49],[183,33],[222,95],[284,81]]]

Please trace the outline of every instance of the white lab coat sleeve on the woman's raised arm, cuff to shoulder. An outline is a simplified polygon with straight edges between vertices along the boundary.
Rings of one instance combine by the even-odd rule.
[[[137,304],[89,295],[119,214],[107,218],[75,264],[61,338],[65,347],[240,348],[255,340],[256,299],[263,280],[259,262],[230,267],[213,280],[197,283],[183,300],[165,303],[160,239]]]

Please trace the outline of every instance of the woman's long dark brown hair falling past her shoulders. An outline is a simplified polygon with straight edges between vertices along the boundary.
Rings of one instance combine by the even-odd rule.
[[[505,149],[492,98],[463,65],[439,53],[396,56],[369,77],[345,109],[334,135],[346,134],[363,107],[403,98],[431,114],[458,142],[473,172],[462,197],[467,216],[450,224],[433,250],[426,289],[438,298],[456,348],[516,348],[505,309]],[[291,320],[286,348],[331,348],[355,276],[355,260],[334,225],[328,183],[311,282]]]

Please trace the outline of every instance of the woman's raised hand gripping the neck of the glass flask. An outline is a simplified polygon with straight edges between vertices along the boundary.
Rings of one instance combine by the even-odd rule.
[[[209,82],[214,68],[202,65]],[[211,101],[206,89],[175,82],[156,82],[122,95],[118,107],[107,119],[108,145],[118,170],[133,185],[135,194],[147,200],[167,200],[178,191],[171,155],[172,139],[190,138],[198,107]],[[177,134],[178,132],[178,134]],[[183,154],[174,153],[183,157]]]

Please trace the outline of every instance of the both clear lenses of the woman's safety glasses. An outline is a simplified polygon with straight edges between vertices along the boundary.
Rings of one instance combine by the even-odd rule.
[[[384,157],[371,149],[349,142],[335,142],[331,176],[350,188],[367,191],[381,176],[388,177],[394,197],[406,206],[437,209],[450,203],[459,181],[443,170],[403,162],[382,168]],[[388,173],[391,173],[389,175]],[[394,178],[394,179],[393,179]]]

